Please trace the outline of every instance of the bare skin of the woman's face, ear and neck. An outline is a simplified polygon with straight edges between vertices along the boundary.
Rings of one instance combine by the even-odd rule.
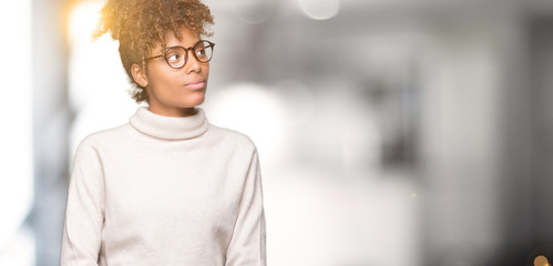
[[[190,48],[199,41],[199,35],[186,28],[181,30],[178,40],[173,32],[165,37],[165,45]],[[149,57],[163,52],[162,43],[156,43]],[[209,62],[202,63],[188,51],[188,61],[181,69],[172,69],[165,59],[157,58],[147,62],[146,71],[133,64],[133,79],[146,89],[149,110],[164,116],[190,116],[196,113],[195,106],[205,100]]]

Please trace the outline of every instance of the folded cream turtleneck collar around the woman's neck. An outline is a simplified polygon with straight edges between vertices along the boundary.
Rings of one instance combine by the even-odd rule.
[[[140,106],[129,123],[139,132],[162,140],[187,140],[204,134],[208,122],[204,110],[196,108],[196,114],[186,117],[170,117],[152,113]]]

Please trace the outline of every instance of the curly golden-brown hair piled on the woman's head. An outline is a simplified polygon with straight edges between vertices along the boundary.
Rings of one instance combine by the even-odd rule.
[[[133,64],[145,65],[155,43],[163,43],[167,32],[181,39],[184,27],[198,35],[213,35],[206,27],[213,24],[209,9],[199,0],[107,0],[93,38],[110,32],[119,41],[121,62],[133,84],[132,98],[147,102],[147,93],[132,78]]]

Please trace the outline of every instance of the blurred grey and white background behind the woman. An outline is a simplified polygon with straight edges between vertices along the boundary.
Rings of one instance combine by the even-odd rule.
[[[269,265],[553,262],[553,1],[204,2],[202,108],[258,146]],[[136,109],[103,3],[0,9],[0,265],[59,265],[74,149]]]

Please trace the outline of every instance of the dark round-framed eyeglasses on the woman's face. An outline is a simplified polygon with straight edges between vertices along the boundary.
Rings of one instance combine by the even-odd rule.
[[[194,58],[202,63],[207,63],[212,60],[213,57],[213,48],[215,43],[211,41],[199,40],[194,44],[194,47],[183,48],[183,47],[170,47],[164,48],[164,52],[162,54],[145,58],[144,61],[164,58],[167,64],[173,69],[183,68],[188,61],[188,51],[193,51]]]

